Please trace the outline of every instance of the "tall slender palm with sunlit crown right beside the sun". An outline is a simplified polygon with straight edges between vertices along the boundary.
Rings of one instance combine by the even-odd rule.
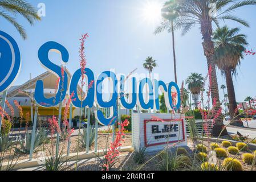
[[[172,32],[172,51],[173,51],[173,64],[174,64],[174,77],[177,84],[177,68],[176,68],[176,51],[175,51],[175,39],[174,39],[174,22],[179,16],[180,7],[178,6],[177,0],[169,0],[164,3],[162,7],[162,18],[163,22],[159,27],[156,28],[155,34],[159,34],[162,31],[167,30]]]

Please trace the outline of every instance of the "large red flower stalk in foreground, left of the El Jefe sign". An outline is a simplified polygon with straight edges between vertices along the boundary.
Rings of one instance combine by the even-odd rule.
[[[111,164],[115,163],[115,160],[117,156],[119,156],[120,152],[118,150],[118,147],[120,147],[122,144],[121,142],[124,141],[122,137],[124,136],[124,127],[129,125],[129,121],[125,119],[123,123],[121,123],[121,129],[116,132],[116,138],[113,143],[111,143],[110,148],[108,149],[107,155],[105,155],[105,159],[107,159],[108,163],[104,164],[103,167],[106,168],[106,171],[109,171],[109,166]]]

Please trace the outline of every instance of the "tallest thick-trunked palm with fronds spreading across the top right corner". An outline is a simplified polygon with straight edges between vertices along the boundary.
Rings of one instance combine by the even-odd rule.
[[[234,20],[235,22],[249,27],[249,24],[245,20],[232,15],[232,13],[239,7],[256,5],[256,0],[244,0],[238,2],[233,0],[180,0],[180,4],[180,16],[177,18],[176,24],[174,24],[174,30],[176,28],[182,28],[182,34],[185,34],[193,26],[198,25],[200,27],[203,39],[202,46],[207,59],[208,69],[212,67],[212,101],[216,100],[217,103],[220,103],[216,67],[214,63],[212,23],[215,23],[217,27],[219,27],[219,20]],[[215,109],[219,110],[220,104]],[[220,115],[220,117],[216,119],[212,135],[220,135],[222,129],[223,120]],[[225,134],[227,134],[226,130],[222,132],[222,135]]]

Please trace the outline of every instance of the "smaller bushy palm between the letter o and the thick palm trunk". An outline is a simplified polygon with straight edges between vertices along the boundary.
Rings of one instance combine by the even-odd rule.
[[[192,93],[194,106],[197,109],[198,95],[204,85],[204,78],[202,77],[202,74],[191,73],[191,75],[186,79],[186,85],[188,85],[188,89]]]

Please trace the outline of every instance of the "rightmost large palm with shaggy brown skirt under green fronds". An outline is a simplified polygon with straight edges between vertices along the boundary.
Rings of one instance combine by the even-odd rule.
[[[213,34],[213,40],[215,43],[216,65],[226,77],[230,118],[235,118],[231,125],[242,126],[242,122],[239,122],[232,76],[237,74],[236,69],[241,63],[241,59],[243,59],[243,52],[246,50],[245,46],[248,43],[246,36],[238,34],[238,32],[239,28],[229,29],[227,26],[217,28]]]

